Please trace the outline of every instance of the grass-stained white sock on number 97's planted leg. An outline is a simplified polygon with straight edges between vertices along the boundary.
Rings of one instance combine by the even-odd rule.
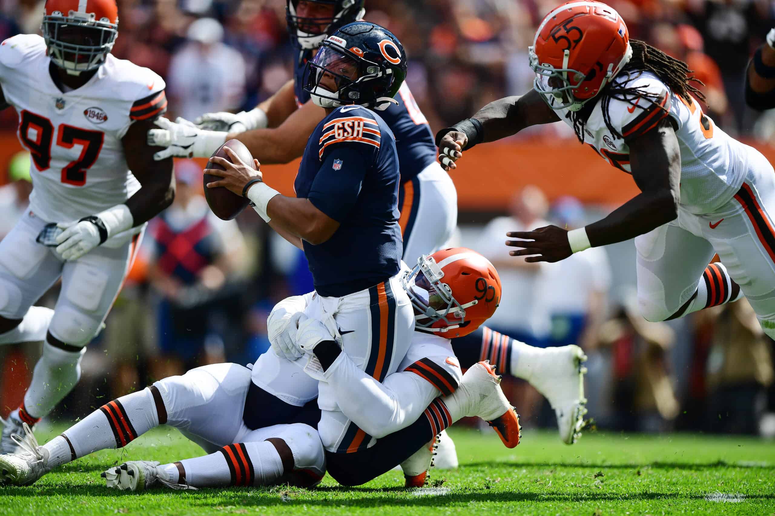
[[[81,357],[85,349],[65,351],[43,343],[43,356],[35,364],[33,381],[24,395],[24,407],[29,415],[42,418],[73,390],[81,379]]]

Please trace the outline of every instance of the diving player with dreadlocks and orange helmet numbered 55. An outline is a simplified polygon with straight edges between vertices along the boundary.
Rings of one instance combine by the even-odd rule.
[[[702,112],[686,64],[629,39],[621,16],[592,1],[553,9],[529,53],[534,89],[439,132],[443,165],[455,169],[478,143],[563,120],[580,142],[632,174],[641,193],[587,227],[508,233],[522,239],[507,241],[521,248],[510,254],[559,261],[636,237],[646,320],[676,319],[745,293],[775,337],[773,167]],[[715,253],[722,263],[708,265]]]

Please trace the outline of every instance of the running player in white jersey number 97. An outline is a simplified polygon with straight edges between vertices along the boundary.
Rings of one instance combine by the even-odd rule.
[[[47,0],[41,30],[0,44],[0,109],[19,113],[31,153],[29,210],[0,242],[0,344],[45,340],[22,405],[5,422],[34,425],[81,376],[84,347],[121,288],[146,220],[174,197],[172,160],[146,133],[164,114],[164,80],[110,54],[114,0]],[[53,311],[32,306],[54,282]]]

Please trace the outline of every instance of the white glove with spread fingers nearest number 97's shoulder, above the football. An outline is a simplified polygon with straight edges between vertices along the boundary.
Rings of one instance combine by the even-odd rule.
[[[167,148],[153,155],[156,161],[171,156],[209,158],[223,145],[223,142],[226,142],[226,132],[204,131],[185,118],[177,117],[174,122],[167,118],[157,118],[153,123],[160,129],[149,129],[148,145]]]

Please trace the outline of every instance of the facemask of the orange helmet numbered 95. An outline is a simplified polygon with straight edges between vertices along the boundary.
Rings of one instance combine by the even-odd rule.
[[[401,276],[401,285],[417,314],[415,329],[446,333],[466,326],[466,309],[474,306],[478,301],[474,299],[461,305],[454,298],[449,285],[442,282],[443,278],[443,270],[429,255],[418,258],[417,265]]]

